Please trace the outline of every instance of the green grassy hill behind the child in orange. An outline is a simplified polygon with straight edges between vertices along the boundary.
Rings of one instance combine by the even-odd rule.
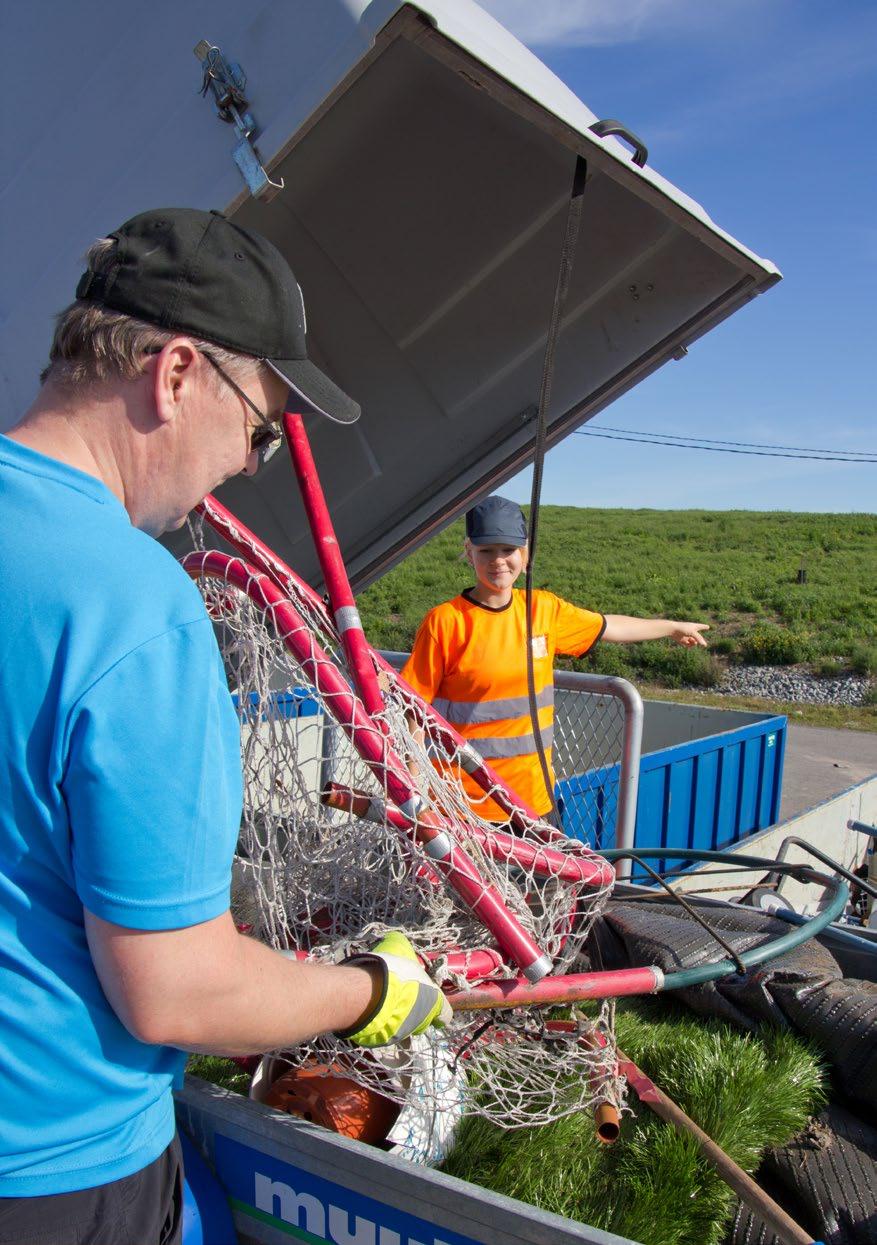
[[[409,649],[432,605],[472,583],[462,520],[360,598],[372,644]],[[806,583],[799,584],[804,565]],[[546,505],[534,583],[608,614],[709,622],[710,652],[598,645],[582,670],[709,686],[716,657],[877,675],[877,515]]]

